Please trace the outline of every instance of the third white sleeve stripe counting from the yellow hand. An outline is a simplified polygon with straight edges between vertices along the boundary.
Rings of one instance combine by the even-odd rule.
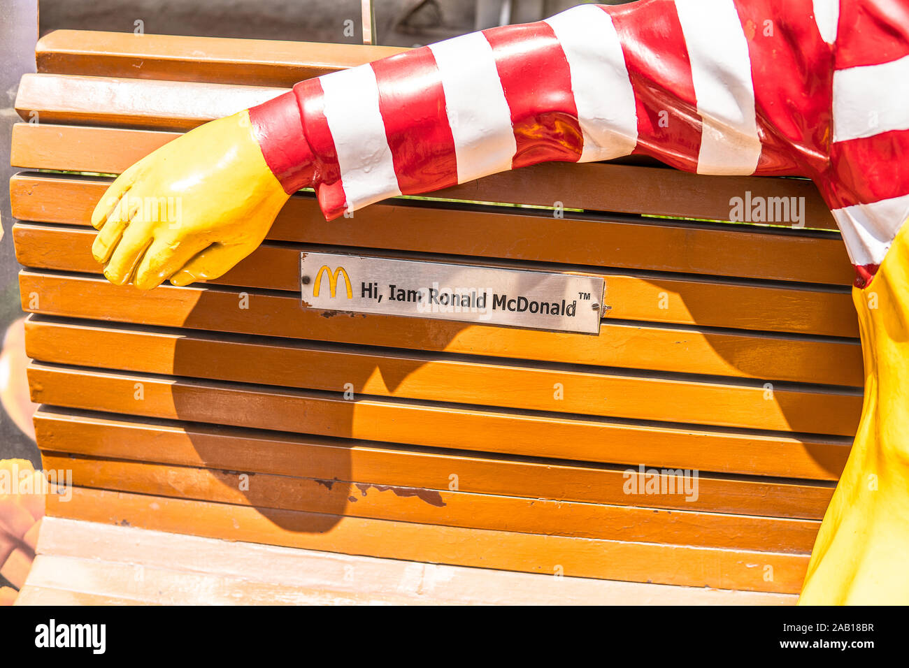
[[[584,134],[580,162],[630,154],[637,144],[637,112],[612,16],[599,7],[580,5],[546,23],[571,70],[574,105]]]

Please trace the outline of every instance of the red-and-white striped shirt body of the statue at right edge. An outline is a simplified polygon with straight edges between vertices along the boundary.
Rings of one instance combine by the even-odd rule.
[[[865,287],[909,218],[909,1],[820,4],[835,58],[829,168],[815,181]]]

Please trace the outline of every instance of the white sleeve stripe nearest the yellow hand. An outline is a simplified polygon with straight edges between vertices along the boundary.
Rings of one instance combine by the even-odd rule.
[[[401,194],[379,112],[379,89],[369,65],[320,77],[325,120],[335,140],[347,210]]]

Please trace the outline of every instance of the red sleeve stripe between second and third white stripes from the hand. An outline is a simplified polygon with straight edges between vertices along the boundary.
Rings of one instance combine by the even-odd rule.
[[[577,120],[571,72],[553,29],[543,21],[483,31],[511,110],[512,167],[547,160],[577,162],[584,135]],[[482,101],[477,101],[482,104]]]

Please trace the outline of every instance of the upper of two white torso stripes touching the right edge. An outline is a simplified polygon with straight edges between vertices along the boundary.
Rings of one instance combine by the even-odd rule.
[[[834,142],[909,129],[909,55],[834,72]]]

